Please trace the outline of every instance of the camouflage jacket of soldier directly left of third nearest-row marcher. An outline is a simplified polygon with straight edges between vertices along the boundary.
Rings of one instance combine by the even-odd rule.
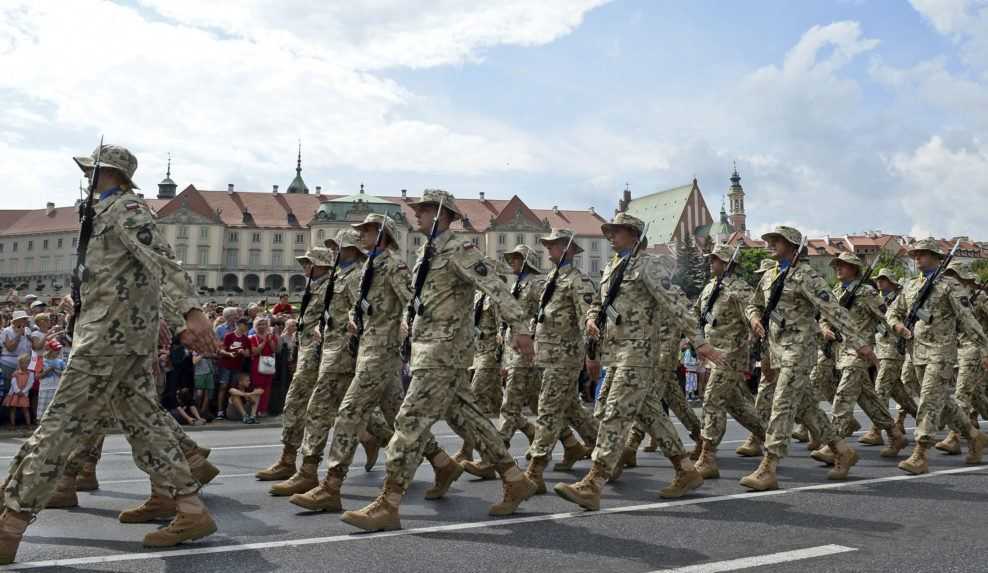
[[[580,369],[586,356],[584,317],[596,299],[593,283],[580,269],[569,264],[559,268],[556,291],[544,309],[545,319],[535,325],[536,366]],[[538,301],[535,310],[538,312]],[[576,372],[573,380],[575,383]]]

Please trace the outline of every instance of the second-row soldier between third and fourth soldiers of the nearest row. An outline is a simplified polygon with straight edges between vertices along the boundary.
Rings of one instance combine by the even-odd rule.
[[[695,305],[697,316],[705,320],[704,336],[714,348],[724,353],[726,367],[710,365],[710,378],[703,394],[703,449],[696,469],[704,479],[720,477],[717,467],[717,446],[727,429],[727,414],[731,414],[758,440],[765,439],[765,426],[750,392],[744,387],[742,372],[748,368],[748,322],[745,305],[753,291],[744,279],[732,273],[722,279],[717,300],[708,316],[701,313],[707,308],[711,294],[731,261],[733,249],[727,245],[715,247],[710,259],[710,282],[700,293]]]

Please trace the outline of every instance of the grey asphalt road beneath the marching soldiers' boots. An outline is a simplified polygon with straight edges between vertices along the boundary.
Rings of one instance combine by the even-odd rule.
[[[451,452],[459,446],[445,425],[435,433]],[[966,466],[960,456],[934,454],[931,474],[910,477],[880,458],[878,448],[862,447],[851,480],[827,482],[826,468],[794,444],[780,465],[784,489],[752,494],[737,480],[757,460],[734,455],[745,434],[732,421],[721,479],[683,500],[659,500],[672,470],[661,455],[640,453],[639,467],[605,488],[602,511],[574,511],[550,492],[515,516],[491,518],[487,506],[499,499],[499,482],[465,475],[446,499],[429,502],[422,494],[432,470],[424,465],[402,505],[405,529],[360,534],[337,515],[307,513],[270,497],[267,484],[255,481],[254,471],[277,456],[278,436],[273,428],[193,432],[213,448],[210,459],[223,472],[205,490],[220,531],[163,551],[140,542],[158,526],[116,520],[149,489],[126,442],[112,436],[98,470],[101,489],[79,494],[79,508],[40,514],[19,563],[0,570],[988,571],[988,466]],[[0,458],[9,460],[19,442],[0,441]],[[512,451],[523,455],[524,437],[516,437]],[[382,466],[365,473],[360,455],[344,486],[347,508],[373,499],[383,480]],[[548,472],[550,488],[575,481],[588,463],[573,473]]]

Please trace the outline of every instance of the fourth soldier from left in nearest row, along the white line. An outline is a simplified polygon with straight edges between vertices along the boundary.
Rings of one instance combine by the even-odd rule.
[[[759,491],[778,489],[776,466],[789,451],[790,435],[797,419],[835,452],[834,469],[828,478],[847,479],[851,466],[857,462],[857,453],[834,432],[809,383],[817,352],[817,313],[840,331],[848,348],[872,361],[877,361],[875,354],[866,336],[851,323],[847,311],[830,295],[823,277],[809,265],[796,264],[802,241],[799,231],[792,227],[776,227],[762,235],[762,239],[769,244],[779,267],[762,276],[746,313],[756,336],[768,337],[768,351],[772,364],[779,369],[779,379],[766,431],[765,455],[758,469],[741,479],[741,485]],[[761,318],[775,281],[779,273],[794,264],[786,277],[778,305],[769,317],[766,332]]]

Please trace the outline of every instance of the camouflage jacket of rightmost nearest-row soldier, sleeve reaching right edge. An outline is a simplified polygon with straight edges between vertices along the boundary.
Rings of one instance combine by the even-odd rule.
[[[906,283],[902,294],[889,309],[889,321],[892,324],[905,322],[913,301],[925,283],[924,276]],[[911,352],[916,366],[930,363],[955,364],[957,341],[962,334],[969,335],[982,349],[988,347],[985,331],[971,311],[970,299],[953,277],[944,276],[937,280],[922,310],[925,318],[916,323],[912,333]]]

